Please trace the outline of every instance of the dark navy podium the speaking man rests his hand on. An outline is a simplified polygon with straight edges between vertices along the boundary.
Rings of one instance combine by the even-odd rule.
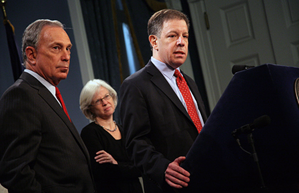
[[[190,182],[181,193],[299,192],[299,68],[264,64],[238,72],[230,81],[182,167]],[[271,123],[252,131],[267,189],[261,189],[253,157],[231,132],[268,115]],[[241,146],[251,152],[246,134]]]

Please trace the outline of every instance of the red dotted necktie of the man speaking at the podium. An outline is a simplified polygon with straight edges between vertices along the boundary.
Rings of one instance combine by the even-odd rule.
[[[187,111],[189,116],[191,117],[193,123],[195,124],[198,133],[200,132],[200,130],[202,129],[202,125],[199,119],[199,116],[197,114],[196,111],[196,107],[193,101],[193,98],[191,96],[189,87],[184,79],[184,77],[180,74],[180,72],[175,69],[174,71],[174,76],[176,77],[176,83],[177,83],[177,87],[179,89],[179,91],[181,92],[185,103],[187,105]]]

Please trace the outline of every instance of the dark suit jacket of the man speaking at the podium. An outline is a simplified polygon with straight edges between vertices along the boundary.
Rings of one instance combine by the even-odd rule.
[[[205,121],[207,116],[198,88],[190,77],[183,76]],[[198,132],[181,101],[150,61],[123,82],[121,119],[129,156],[163,189],[168,164],[187,154]]]

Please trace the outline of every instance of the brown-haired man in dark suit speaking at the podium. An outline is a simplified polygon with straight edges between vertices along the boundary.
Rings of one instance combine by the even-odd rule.
[[[186,187],[190,174],[179,165],[198,135],[174,76],[188,53],[189,21],[177,10],[154,13],[148,22],[152,57],[145,68],[121,86],[121,119],[126,148],[135,165],[159,190],[173,192]],[[195,82],[180,71],[191,92],[201,126],[207,119]],[[200,130],[200,129],[199,129]],[[149,190],[151,189],[151,190]]]

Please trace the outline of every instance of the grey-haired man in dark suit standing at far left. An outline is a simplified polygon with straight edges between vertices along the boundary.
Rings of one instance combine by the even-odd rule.
[[[88,151],[56,97],[72,44],[59,21],[23,33],[26,69],[0,98],[0,184],[9,193],[94,193]]]

